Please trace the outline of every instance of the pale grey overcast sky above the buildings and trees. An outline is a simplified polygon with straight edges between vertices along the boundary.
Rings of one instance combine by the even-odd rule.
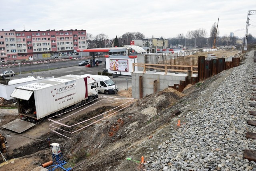
[[[219,36],[244,37],[248,10],[256,0],[1,0],[0,29],[86,30],[112,39],[126,32],[146,38],[174,38],[214,22]],[[256,37],[256,14],[250,15],[248,33]]]

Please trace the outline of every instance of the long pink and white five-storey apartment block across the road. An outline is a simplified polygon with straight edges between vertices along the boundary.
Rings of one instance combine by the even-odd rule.
[[[2,62],[77,56],[78,48],[87,48],[86,30],[0,31]]]

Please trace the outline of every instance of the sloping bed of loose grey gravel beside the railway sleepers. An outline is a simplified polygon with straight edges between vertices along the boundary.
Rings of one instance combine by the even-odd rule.
[[[256,111],[249,107],[256,71],[253,56],[254,51],[248,52],[244,64],[226,72],[197,101],[180,109],[188,122],[179,129],[170,127],[170,139],[144,163],[147,171],[256,171],[256,163],[244,159],[245,149],[256,150],[256,140],[246,138],[247,131],[256,132],[247,124],[255,119],[248,111]]]

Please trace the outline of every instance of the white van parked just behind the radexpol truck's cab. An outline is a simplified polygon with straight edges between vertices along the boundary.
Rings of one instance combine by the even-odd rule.
[[[90,75],[86,76],[92,78],[98,83],[98,92],[107,94],[115,94],[118,92],[118,87],[108,76]]]

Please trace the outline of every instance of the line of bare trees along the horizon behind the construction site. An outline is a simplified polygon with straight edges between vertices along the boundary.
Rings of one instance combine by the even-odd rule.
[[[239,38],[235,36],[232,32],[229,36],[225,35],[220,37],[220,31],[217,30],[216,22],[210,28],[210,37],[207,37],[208,33],[205,29],[199,28],[197,30],[189,30],[186,34],[180,33],[177,34],[174,38],[168,38],[169,46],[180,44],[187,47],[208,47],[211,48],[214,45],[214,39],[216,42],[216,46],[229,46],[229,45],[236,45],[236,40],[244,40],[244,38]],[[216,35],[216,36],[215,36]],[[111,45],[106,45],[106,41],[108,41],[108,36],[104,33],[98,34],[93,36],[90,33],[86,33],[87,38],[87,48],[107,48]],[[145,38],[144,34],[140,32],[126,32],[122,34],[119,38],[130,38],[132,40],[141,40],[141,39],[148,39]],[[152,36],[154,38],[154,36]],[[160,39],[163,39],[162,36]],[[118,37],[110,39],[114,41],[114,46],[118,45]],[[255,43],[256,38],[252,36],[252,34],[248,34],[247,43]],[[149,47],[149,42],[146,42],[145,47]]]

